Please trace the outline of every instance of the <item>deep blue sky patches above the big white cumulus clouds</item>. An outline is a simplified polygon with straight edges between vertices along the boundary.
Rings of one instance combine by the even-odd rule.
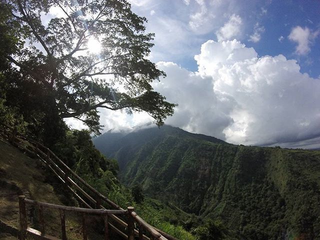
[[[208,39],[217,40],[218,28],[230,15],[236,14],[242,21],[241,32],[233,37],[241,40],[248,47],[254,47],[259,55],[283,54],[287,58],[297,59],[302,72],[307,72],[313,77],[320,75],[318,67],[320,37],[309,39],[310,51],[302,54],[295,52],[297,42],[288,38],[292,28],[296,26],[308,28],[311,33],[320,29],[320,1],[132,0],[130,2],[134,12],[148,19],[147,30],[156,34],[154,52],[162,52],[162,54],[154,57],[154,61],[173,61],[195,71],[197,64],[193,57],[199,52],[201,44]],[[203,14],[199,14],[202,19],[192,19],[193,15],[201,13],[202,6],[205,8]],[[215,17],[212,18],[211,14]],[[192,27],[192,22],[197,22],[198,25]],[[258,27],[256,27],[257,24]],[[255,28],[262,29],[257,42],[249,40]],[[169,38],[172,36],[165,31],[174,32],[175,29],[178,29],[176,34],[187,37],[183,39],[173,37],[177,39],[170,40],[169,43],[163,42],[165,36]],[[165,46],[166,44],[168,45]],[[170,54],[167,51],[171,48],[181,49],[178,54],[175,52]]]

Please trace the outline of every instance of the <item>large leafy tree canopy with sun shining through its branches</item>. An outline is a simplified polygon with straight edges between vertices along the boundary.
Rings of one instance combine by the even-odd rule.
[[[161,125],[174,104],[150,85],[165,73],[146,59],[153,34],[130,7],[125,0],[1,0],[1,61],[40,86],[59,118],[97,132],[103,107],[146,111]]]

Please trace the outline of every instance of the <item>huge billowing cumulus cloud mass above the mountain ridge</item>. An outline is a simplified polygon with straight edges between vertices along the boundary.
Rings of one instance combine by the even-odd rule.
[[[166,121],[228,142],[272,144],[320,136],[320,79],[283,55],[258,57],[239,41],[209,40],[197,72],[159,62],[155,89],[179,104]]]

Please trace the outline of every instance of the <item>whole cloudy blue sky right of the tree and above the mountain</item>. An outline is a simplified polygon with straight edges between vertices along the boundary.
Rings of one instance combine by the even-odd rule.
[[[234,144],[320,147],[320,1],[130,0],[154,32],[165,124]],[[152,121],[100,111],[103,131]],[[81,125],[67,120],[73,127]]]

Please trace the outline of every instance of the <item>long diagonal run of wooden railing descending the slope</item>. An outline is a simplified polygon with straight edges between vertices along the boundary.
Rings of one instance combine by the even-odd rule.
[[[29,154],[38,157],[42,162],[44,162],[45,165],[53,172],[53,174],[63,183],[64,187],[74,194],[74,196],[79,200],[79,203],[87,207],[81,209],[97,208],[106,210],[106,207],[112,207],[116,210],[126,211],[126,215],[130,215],[128,219],[133,219],[133,221],[128,220],[128,222],[126,222],[126,219],[121,217],[123,214],[114,214],[110,210],[110,212],[107,213],[110,230],[114,231],[122,238],[133,240],[134,235],[136,235],[138,236],[139,240],[177,240],[175,237],[167,234],[166,232],[156,229],[146,223],[134,212],[133,207],[129,206],[127,210],[124,210],[106,196],[95,190],[74,171],[72,171],[49,148],[45,147],[41,143],[16,132],[13,134],[6,132],[6,137],[13,145],[16,145]],[[24,201],[27,203],[32,203],[32,200],[25,199]],[[49,203],[42,204],[45,205]],[[137,229],[134,227],[134,222],[137,223]],[[25,225],[23,225],[23,227],[23,229],[28,229],[27,227],[25,228]],[[131,232],[133,232],[133,235]],[[143,234],[143,232],[145,234]]]

